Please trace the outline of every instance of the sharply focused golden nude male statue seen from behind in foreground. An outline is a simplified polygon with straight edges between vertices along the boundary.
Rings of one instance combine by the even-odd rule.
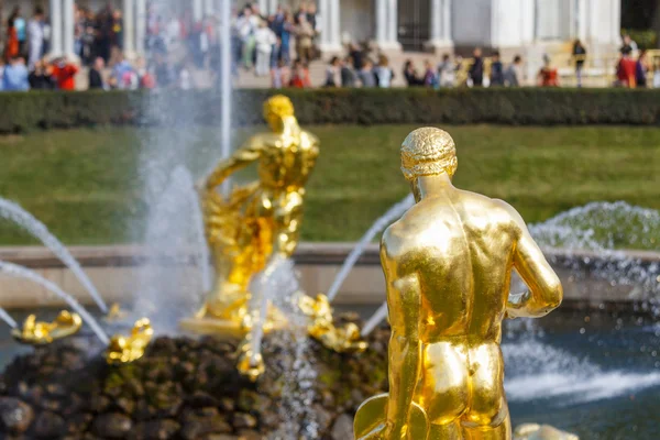
[[[404,141],[402,169],[417,204],[381,245],[389,395],[361,406],[359,439],[510,439],[502,321],[542,317],[562,300],[522,218],[502,200],[455,188],[457,166],[442,130],[419,129]],[[509,298],[513,270],[529,292]]]

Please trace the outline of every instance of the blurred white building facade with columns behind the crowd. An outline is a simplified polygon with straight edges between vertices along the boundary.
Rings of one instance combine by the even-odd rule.
[[[176,9],[193,19],[212,15],[223,0],[112,0],[124,15],[124,48],[144,48],[150,3]],[[301,0],[253,0],[262,11],[277,4],[296,9]],[[468,50],[504,53],[539,47],[552,52],[581,38],[592,51],[619,45],[622,0],[316,0],[319,45],[339,52],[348,42],[370,42],[386,52]],[[246,1],[233,0],[235,6]],[[54,53],[73,53],[74,3],[92,10],[107,0],[4,0],[4,16],[20,6],[29,18],[36,4],[52,19]]]

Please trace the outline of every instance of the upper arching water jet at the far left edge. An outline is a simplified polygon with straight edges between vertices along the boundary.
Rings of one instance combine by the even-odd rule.
[[[98,305],[99,309],[103,314],[108,312],[108,306],[103,298],[99,295],[98,290],[89,279],[89,277],[80,267],[80,264],[74,258],[74,256],[69,253],[69,251],[53,235],[48,232],[48,229],[44,223],[38,221],[34,216],[30,212],[25,211],[18,204],[13,201],[9,201],[0,197],[0,218],[4,218],[10,220],[37,239],[40,239],[59,260],[66,264],[66,266],[73,272],[73,274],[78,278],[80,284],[89,292],[95,302]]]

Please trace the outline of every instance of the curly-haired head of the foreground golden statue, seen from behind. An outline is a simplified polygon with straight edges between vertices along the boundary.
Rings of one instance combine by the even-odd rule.
[[[402,170],[409,182],[443,173],[452,178],[458,166],[457,146],[443,130],[430,127],[417,129],[402,145]]]

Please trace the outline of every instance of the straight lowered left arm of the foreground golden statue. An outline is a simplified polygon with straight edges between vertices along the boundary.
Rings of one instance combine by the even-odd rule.
[[[389,231],[381,245],[381,262],[387,285],[387,305],[392,337],[389,339],[389,404],[387,429],[392,438],[400,438],[408,424],[415,388],[419,381],[421,343],[419,340],[420,287],[417,274],[399,274],[396,254],[388,253],[393,241]],[[398,248],[396,243],[394,248]],[[387,437],[389,438],[389,437]]]

